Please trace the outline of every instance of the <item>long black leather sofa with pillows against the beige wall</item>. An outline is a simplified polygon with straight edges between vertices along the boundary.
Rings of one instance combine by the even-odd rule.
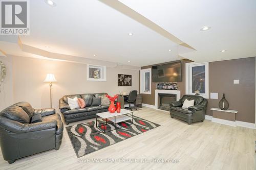
[[[96,117],[96,113],[108,111],[110,105],[91,106],[94,97],[98,98],[99,96],[105,94],[107,93],[64,95],[61,99],[59,99],[59,109],[65,118],[66,124],[68,125],[71,122],[93,118]],[[68,97],[73,99],[75,96],[77,96],[77,98],[82,98],[86,102],[86,108],[70,109],[68,105]]]

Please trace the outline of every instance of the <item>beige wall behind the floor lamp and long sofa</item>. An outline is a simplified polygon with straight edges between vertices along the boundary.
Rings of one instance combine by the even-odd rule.
[[[139,90],[139,71],[120,68],[106,68],[105,82],[87,81],[87,65],[13,57],[14,102],[27,101],[34,108],[49,108],[49,83],[44,82],[48,73],[55,75],[53,83],[53,106],[58,109],[59,99],[66,94],[107,92],[110,95],[120,91]],[[132,86],[117,86],[117,74],[132,75]]]

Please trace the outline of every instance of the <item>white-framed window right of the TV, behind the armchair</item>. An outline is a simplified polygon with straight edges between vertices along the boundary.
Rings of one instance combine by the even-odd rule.
[[[205,63],[186,63],[186,94],[196,94],[204,98],[209,98],[209,72],[208,62]]]

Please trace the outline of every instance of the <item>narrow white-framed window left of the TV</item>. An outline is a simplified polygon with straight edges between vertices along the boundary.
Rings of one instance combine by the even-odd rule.
[[[140,70],[140,93],[151,94],[151,68]]]

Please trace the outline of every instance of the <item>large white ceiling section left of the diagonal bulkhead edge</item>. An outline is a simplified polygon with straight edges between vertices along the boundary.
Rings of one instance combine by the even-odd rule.
[[[31,29],[30,36],[20,38],[24,44],[135,66],[182,59],[176,43],[100,1],[55,2],[50,7],[43,0],[30,1]]]

